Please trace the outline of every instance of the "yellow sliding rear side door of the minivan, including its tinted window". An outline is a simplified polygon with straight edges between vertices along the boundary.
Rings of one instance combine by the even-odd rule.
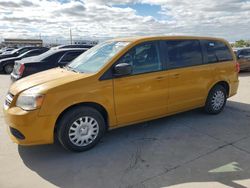
[[[211,66],[203,64],[199,40],[166,41],[169,70],[168,112],[203,106],[211,79]]]

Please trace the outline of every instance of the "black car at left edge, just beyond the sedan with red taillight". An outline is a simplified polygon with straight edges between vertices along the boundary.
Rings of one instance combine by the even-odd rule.
[[[32,57],[36,55],[40,55],[44,52],[48,51],[48,48],[40,48],[35,50],[30,50],[17,57],[9,57],[0,60],[0,70],[4,70],[6,74],[10,74],[13,71],[15,61],[21,60],[23,58]]]

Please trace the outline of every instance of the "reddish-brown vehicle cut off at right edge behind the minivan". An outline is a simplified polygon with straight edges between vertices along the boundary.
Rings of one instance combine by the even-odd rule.
[[[236,51],[236,56],[240,64],[240,70],[250,70],[250,48],[242,48]]]

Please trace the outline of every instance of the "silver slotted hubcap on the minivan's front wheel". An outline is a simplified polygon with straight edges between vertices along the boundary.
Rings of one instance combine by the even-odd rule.
[[[76,146],[87,146],[92,143],[99,132],[97,121],[89,116],[80,117],[69,128],[69,139]]]

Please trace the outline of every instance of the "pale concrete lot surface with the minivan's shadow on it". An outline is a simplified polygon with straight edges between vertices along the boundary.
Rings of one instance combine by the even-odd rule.
[[[9,76],[0,75],[3,103]],[[106,134],[94,149],[12,143],[0,115],[0,187],[250,187],[250,73],[217,116],[194,110]]]

